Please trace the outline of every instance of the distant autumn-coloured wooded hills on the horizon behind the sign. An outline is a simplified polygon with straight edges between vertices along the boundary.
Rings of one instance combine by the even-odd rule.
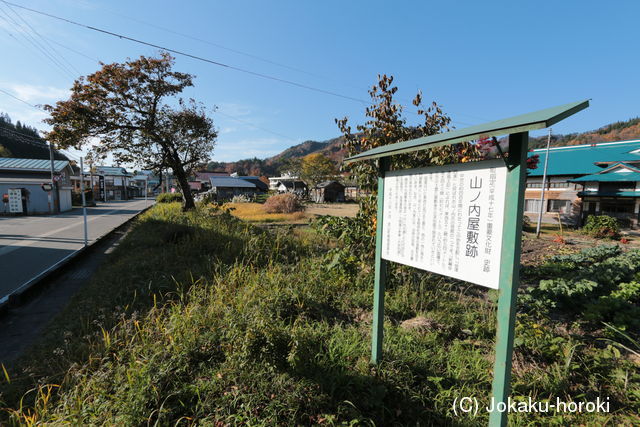
[[[640,118],[615,122],[603,126],[600,129],[582,133],[570,133],[567,135],[552,135],[551,146],[592,144],[596,142],[623,141],[640,138]],[[305,141],[302,144],[287,148],[282,153],[267,159],[246,159],[237,162],[211,162],[209,170],[224,170],[229,173],[238,172],[241,175],[278,175],[284,162],[290,158],[301,158],[311,153],[322,153],[334,160],[342,162],[345,151],[342,149],[344,137],[329,139],[327,141]],[[529,148],[544,148],[547,137],[540,136],[529,139]]]

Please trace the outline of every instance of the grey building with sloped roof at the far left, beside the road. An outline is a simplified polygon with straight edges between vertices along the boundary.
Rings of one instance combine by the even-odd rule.
[[[13,210],[13,213],[30,215],[70,210],[73,170],[69,161],[54,160],[53,172],[54,186],[50,194],[47,191],[51,184],[50,160],[0,158],[2,213],[10,214]]]

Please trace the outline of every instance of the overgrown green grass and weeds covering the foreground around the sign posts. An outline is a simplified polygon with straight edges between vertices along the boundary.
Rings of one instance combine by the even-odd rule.
[[[602,251],[525,270],[529,284],[552,283],[523,290],[522,304],[543,303],[518,318],[513,396],[608,397],[611,413],[513,414],[514,425],[640,422],[637,329],[606,310],[585,317],[607,297],[633,314],[637,290],[621,284],[637,283],[639,255]],[[601,286],[606,271],[617,276]],[[581,305],[563,313],[567,283],[583,279],[595,285],[581,281]],[[341,242],[156,205],[43,342],[8,367],[0,423],[486,424],[485,412],[455,415],[452,405],[488,403],[495,297],[392,269],[384,362],[372,366],[373,271]],[[545,306],[554,298],[563,302]]]

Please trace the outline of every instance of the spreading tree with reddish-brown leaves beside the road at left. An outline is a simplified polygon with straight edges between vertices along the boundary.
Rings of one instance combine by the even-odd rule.
[[[69,99],[45,106],[50,114],[45,122],[52,126],[47,139],[78,149],[97,141],[94,158],[112,154],[117,162],[145,169],[170,168],[184,209],[192,209],[188,177],[209,160],[217,134],[201,105],[176,100],[193,86],[193,76],[173,71],[173,65],[168,53],[102,64],[74,82]]]

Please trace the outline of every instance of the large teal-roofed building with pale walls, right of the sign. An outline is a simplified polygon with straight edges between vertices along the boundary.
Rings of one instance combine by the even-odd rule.
[[[538,168],[527,176],[524,210],[537,220],[546,149],[539,155]],[[553,147],[549,150],[543,221],[581,224],[589,214],[606,214],[637,223],[638,203],[630,192],[635,172],[640,168],[640,140]],[[635,191],[635,184],[633,184]],[[640,196],[640,194],[638,194]]]

